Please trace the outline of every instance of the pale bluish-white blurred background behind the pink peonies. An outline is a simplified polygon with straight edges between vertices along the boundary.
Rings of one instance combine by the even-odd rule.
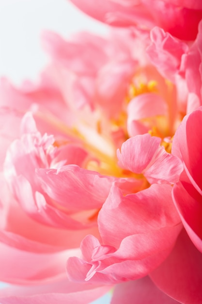
[[[37,80],[48,62],[40,44],[43,30],[63,37],[80,30],[107,33],[105,25],[86,17],[68,0],[0,0],[0,77],[15,84]],[[92,304],[109,303],[108,294]]]

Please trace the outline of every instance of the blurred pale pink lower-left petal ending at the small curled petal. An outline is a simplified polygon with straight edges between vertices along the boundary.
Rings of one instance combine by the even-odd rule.
[[[78,249],[58,253],[31,253],[0,243],[0,280],[13,284],[48,282],[65,277],[65,262]]]

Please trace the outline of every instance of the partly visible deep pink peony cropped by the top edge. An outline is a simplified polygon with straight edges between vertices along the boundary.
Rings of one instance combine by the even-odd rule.
[[[83,12],[110,25],[155,25],[183,40],[194,40],[202,19],[200,0],[71,0]]]

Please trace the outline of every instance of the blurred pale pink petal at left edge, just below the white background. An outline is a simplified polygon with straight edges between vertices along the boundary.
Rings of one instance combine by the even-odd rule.
[[[21,87],[13,86],[7,79],[0,79],[0,105],[12,107],[20,111],[22,115],[27,111],[40,110],[46,114],[52,113],[62,121],[66,121],[67,117],[67,108],[62,94],[47,73],[41,75],[38,84],[27,82]],[[43,119],[37,117],[37,122],[41,123],[44,119],[45,117]]]

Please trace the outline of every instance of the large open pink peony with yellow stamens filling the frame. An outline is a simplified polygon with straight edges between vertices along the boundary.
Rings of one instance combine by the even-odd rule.
[[[184,265],[172,199],[184,160],[171,146],[193,93],[181,66],[194,44],[159,28],[43,39],[53,59],[41,82],[0,86],[2,121],[13,122],[0,126],[0,280],[25,285],[2,290],[1,303],[89,303],[114,284],[112,303],[141,288],[181,301],[148,275],[159,285],[171,256],[179,277]]]

